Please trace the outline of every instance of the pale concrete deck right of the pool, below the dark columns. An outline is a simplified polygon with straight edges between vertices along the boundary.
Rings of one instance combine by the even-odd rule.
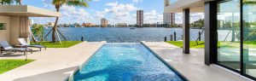
[[[210,67],[205,65],[204,49],[190,49],[190,54],[186,55],[183,54],[183,49],[169,43],[142,43],[190,81],[250,81],[250,79],[220,69],[216,65]]]

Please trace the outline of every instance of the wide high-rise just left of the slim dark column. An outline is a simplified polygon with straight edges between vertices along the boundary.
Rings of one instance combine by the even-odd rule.
[[[164,13],[164,24],[175,24],[175,13]]]

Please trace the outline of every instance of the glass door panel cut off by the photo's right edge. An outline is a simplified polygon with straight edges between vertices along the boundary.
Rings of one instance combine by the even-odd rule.
[[[256,77],[256,0],[242,0],[243,72]]]

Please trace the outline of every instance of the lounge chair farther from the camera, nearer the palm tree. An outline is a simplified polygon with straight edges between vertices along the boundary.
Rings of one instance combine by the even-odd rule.
[[[18,38],[18,40],[20,41],[22,47],[38,48],[38,49],[40,49],[40,51],[42,48],[46,49],[45,46],[40,45],[40,44],[30,45],[30,44],[26,43],[26,40],[24,38]]]

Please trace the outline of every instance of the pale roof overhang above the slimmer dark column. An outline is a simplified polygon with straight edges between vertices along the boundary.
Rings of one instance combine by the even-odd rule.
[[[212,0],[177,0],[165,7],[165,12],[182,13],[183,9],[190,9],[192,13],[203,13],[204,3]]]

